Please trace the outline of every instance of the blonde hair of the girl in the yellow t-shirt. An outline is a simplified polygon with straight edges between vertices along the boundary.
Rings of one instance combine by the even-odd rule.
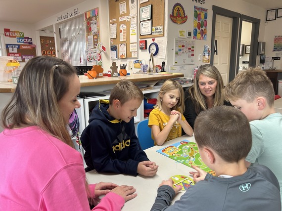
[[[176,110],[179,111],[181,114],[183,114],[185,110],[185,105],[184,105],[184,90],[181,84],[179,84],[177,81],[173,79],[168,79],[167,81],[164,82],[164,84],[161,87],[161,90],[158,94],[157,98],[157,103],[155,105],[155,108],[158,110],[162,109],[162,103],[161,103],[161,96],[163,96],[166,92],[178,89],[179,94],[180,94],[180,99],[177,102],[177,104],[171,109],[171,110]]]

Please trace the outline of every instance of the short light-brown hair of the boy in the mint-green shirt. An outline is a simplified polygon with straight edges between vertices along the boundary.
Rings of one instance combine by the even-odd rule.
[[[265,97],[269,106],[274,105],[273,84],[260,68],[242,71],[227,84],[223,92],[225,99],[229,101],[243,99],[251,103],[257,97]]]

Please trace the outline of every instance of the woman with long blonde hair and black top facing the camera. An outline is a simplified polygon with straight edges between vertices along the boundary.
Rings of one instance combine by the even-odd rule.
[[[223,98],[223,80],[218,69],[211,65],[202,65],[194,80],[194,84],[185,91],[185,111],[183,113],[188,124],[194,128],[196,117],[209,108],[231,105]]]

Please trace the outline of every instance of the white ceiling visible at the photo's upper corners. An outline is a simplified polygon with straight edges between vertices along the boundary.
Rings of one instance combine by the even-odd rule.
[[[36,23],[85,0],[0,0],[0,21]],[[282,7],[282,0],[244,0],[265,9]],[[24,8],[24,9],[23,9]]]

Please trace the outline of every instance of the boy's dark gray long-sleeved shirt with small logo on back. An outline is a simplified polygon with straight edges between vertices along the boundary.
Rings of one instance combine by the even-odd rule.
[[[279,182],[262,165],[231,178],[207,174],[169,206],[174,195],[170,186],[159,187],[151,211],[281,211]]]

